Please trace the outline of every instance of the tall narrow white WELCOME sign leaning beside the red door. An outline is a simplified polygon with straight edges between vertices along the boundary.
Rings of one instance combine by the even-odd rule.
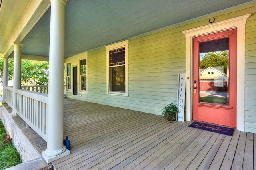
[[[178,121],[184,122],[185,110],[185,91],[186,91],[186,74],[178,75],[178,92],[177,92],[177,107],[179,112],[177,114]]]

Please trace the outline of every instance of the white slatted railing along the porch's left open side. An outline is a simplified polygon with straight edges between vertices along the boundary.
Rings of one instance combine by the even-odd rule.
[[[24,89],[15,89],[14,92],[16,93],[15,113],[47,142],[48,94]],[[10,107],[12,107],[12,93],[12,87],[4,87],[4,99]]]

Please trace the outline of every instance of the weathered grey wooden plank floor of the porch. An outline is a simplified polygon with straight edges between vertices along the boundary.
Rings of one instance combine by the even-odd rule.
[[[64,136],[70,155],[52,162],[76,169],[256,169],[256,134],[235,130],[226,136],[166,121],[159,115],[64,100]],[[14,117],[41,154],[46,142]]]

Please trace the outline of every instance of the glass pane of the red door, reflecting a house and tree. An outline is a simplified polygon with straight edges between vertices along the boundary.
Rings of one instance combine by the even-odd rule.
[[[200,103],[228,105],[229,38],[199,43]]]

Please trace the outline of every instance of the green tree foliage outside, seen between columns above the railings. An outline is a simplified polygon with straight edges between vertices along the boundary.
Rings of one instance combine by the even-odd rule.
[[[3,81],[4,61],[0,56],[0,82]],[[8,77],[13,79],[14,59],[8,60]],[[25,85],[48,85],[49,63],[46,61],[24,60],[21,62],[21,82]]]

